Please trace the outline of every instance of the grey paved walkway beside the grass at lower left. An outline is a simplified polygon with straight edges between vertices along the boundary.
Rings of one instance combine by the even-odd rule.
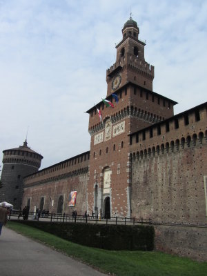
[[[0,236],[0,274],[2,276],[104,275],[5,226]]]

